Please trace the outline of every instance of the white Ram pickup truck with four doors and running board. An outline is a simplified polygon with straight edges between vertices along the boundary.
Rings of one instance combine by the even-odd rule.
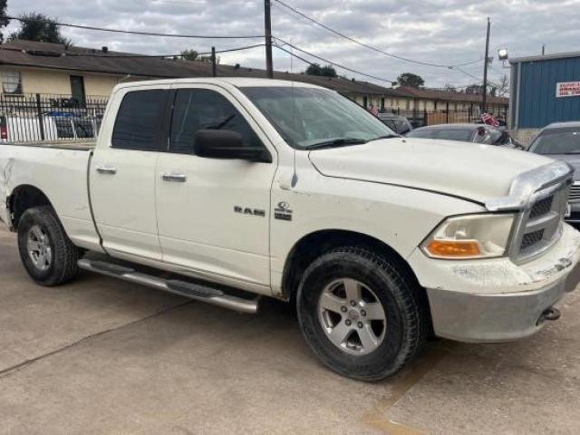
[[[559,317],[580,270],[571,180],[521,151],[401,138],[304,83],[134,82],[94,150],[0,145],[0,218],[41,285],[82,268],[245,313],[283,299],[324,364],[378,380],[432,333],[508,341]]]

